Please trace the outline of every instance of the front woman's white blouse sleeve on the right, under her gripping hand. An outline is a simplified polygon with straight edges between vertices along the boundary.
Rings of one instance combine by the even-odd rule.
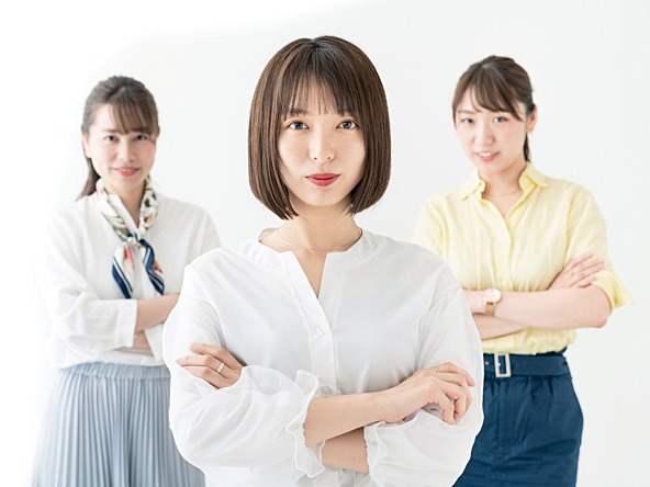
[[[440,281],[450,283],[446,265],[442,274]],[[421,324],[418,367],[445,362],[459,365],[474,378],[472,405],[456,424],[444,422],[440,408],[429,406],[401,423],[367,426],[370,476],[379,485],[450,486],[470,458],[483,422],[483,355],[474,321],[456,282],[436,291]]]

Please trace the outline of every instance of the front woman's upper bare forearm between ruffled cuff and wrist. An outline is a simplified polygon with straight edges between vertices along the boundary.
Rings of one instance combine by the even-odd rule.
[[[313,446],[379,420],[373,394],[314,399],[310,403],[304,422],[305,443]]]

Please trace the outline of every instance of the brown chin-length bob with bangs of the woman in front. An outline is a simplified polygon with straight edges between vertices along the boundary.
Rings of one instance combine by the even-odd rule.
[[[377,203],[391,172],[391,134],[383,84],[356,45],[334,36],[299,38],[282,47],[257,82],[248,124],[248,179],[253,194],[282,219],[298,216],[280,173],[278,137],[283,120],[304,106],[310,90],[327,111],[350,114],[366,145],[363,175],[352,189],[351,214]]]

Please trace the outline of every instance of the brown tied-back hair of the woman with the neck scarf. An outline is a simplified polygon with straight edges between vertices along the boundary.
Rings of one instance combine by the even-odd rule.
[[[142,82],[126,76],[112,76],[100,81],[86,99],[81,122],[83,135],[88,135],[97,110],[103,105],[111,105],[112,118],[120,133],[141,132],[154,138],[160,134],[156,102]],[[86,162],[88,179],[79,197],[94,193],[99,180],[90,158],[87,157]]]

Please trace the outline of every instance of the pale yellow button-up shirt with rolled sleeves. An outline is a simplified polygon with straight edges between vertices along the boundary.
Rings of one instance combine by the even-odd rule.
[[[543,291],[567,263],[591,252],[605,260],[593,285],[612,308],[630,303],[607,259],[605,222],[592,194],[548,178],[530,163],[519,177],[524,194],[503,217],[482,194],[478,171],[461,186],[432,196],[422,207],[414,241],[441,256],[468,290]],[[485,353],[543,353],[573,342],[575,330],[526,328],[483,340]]]

